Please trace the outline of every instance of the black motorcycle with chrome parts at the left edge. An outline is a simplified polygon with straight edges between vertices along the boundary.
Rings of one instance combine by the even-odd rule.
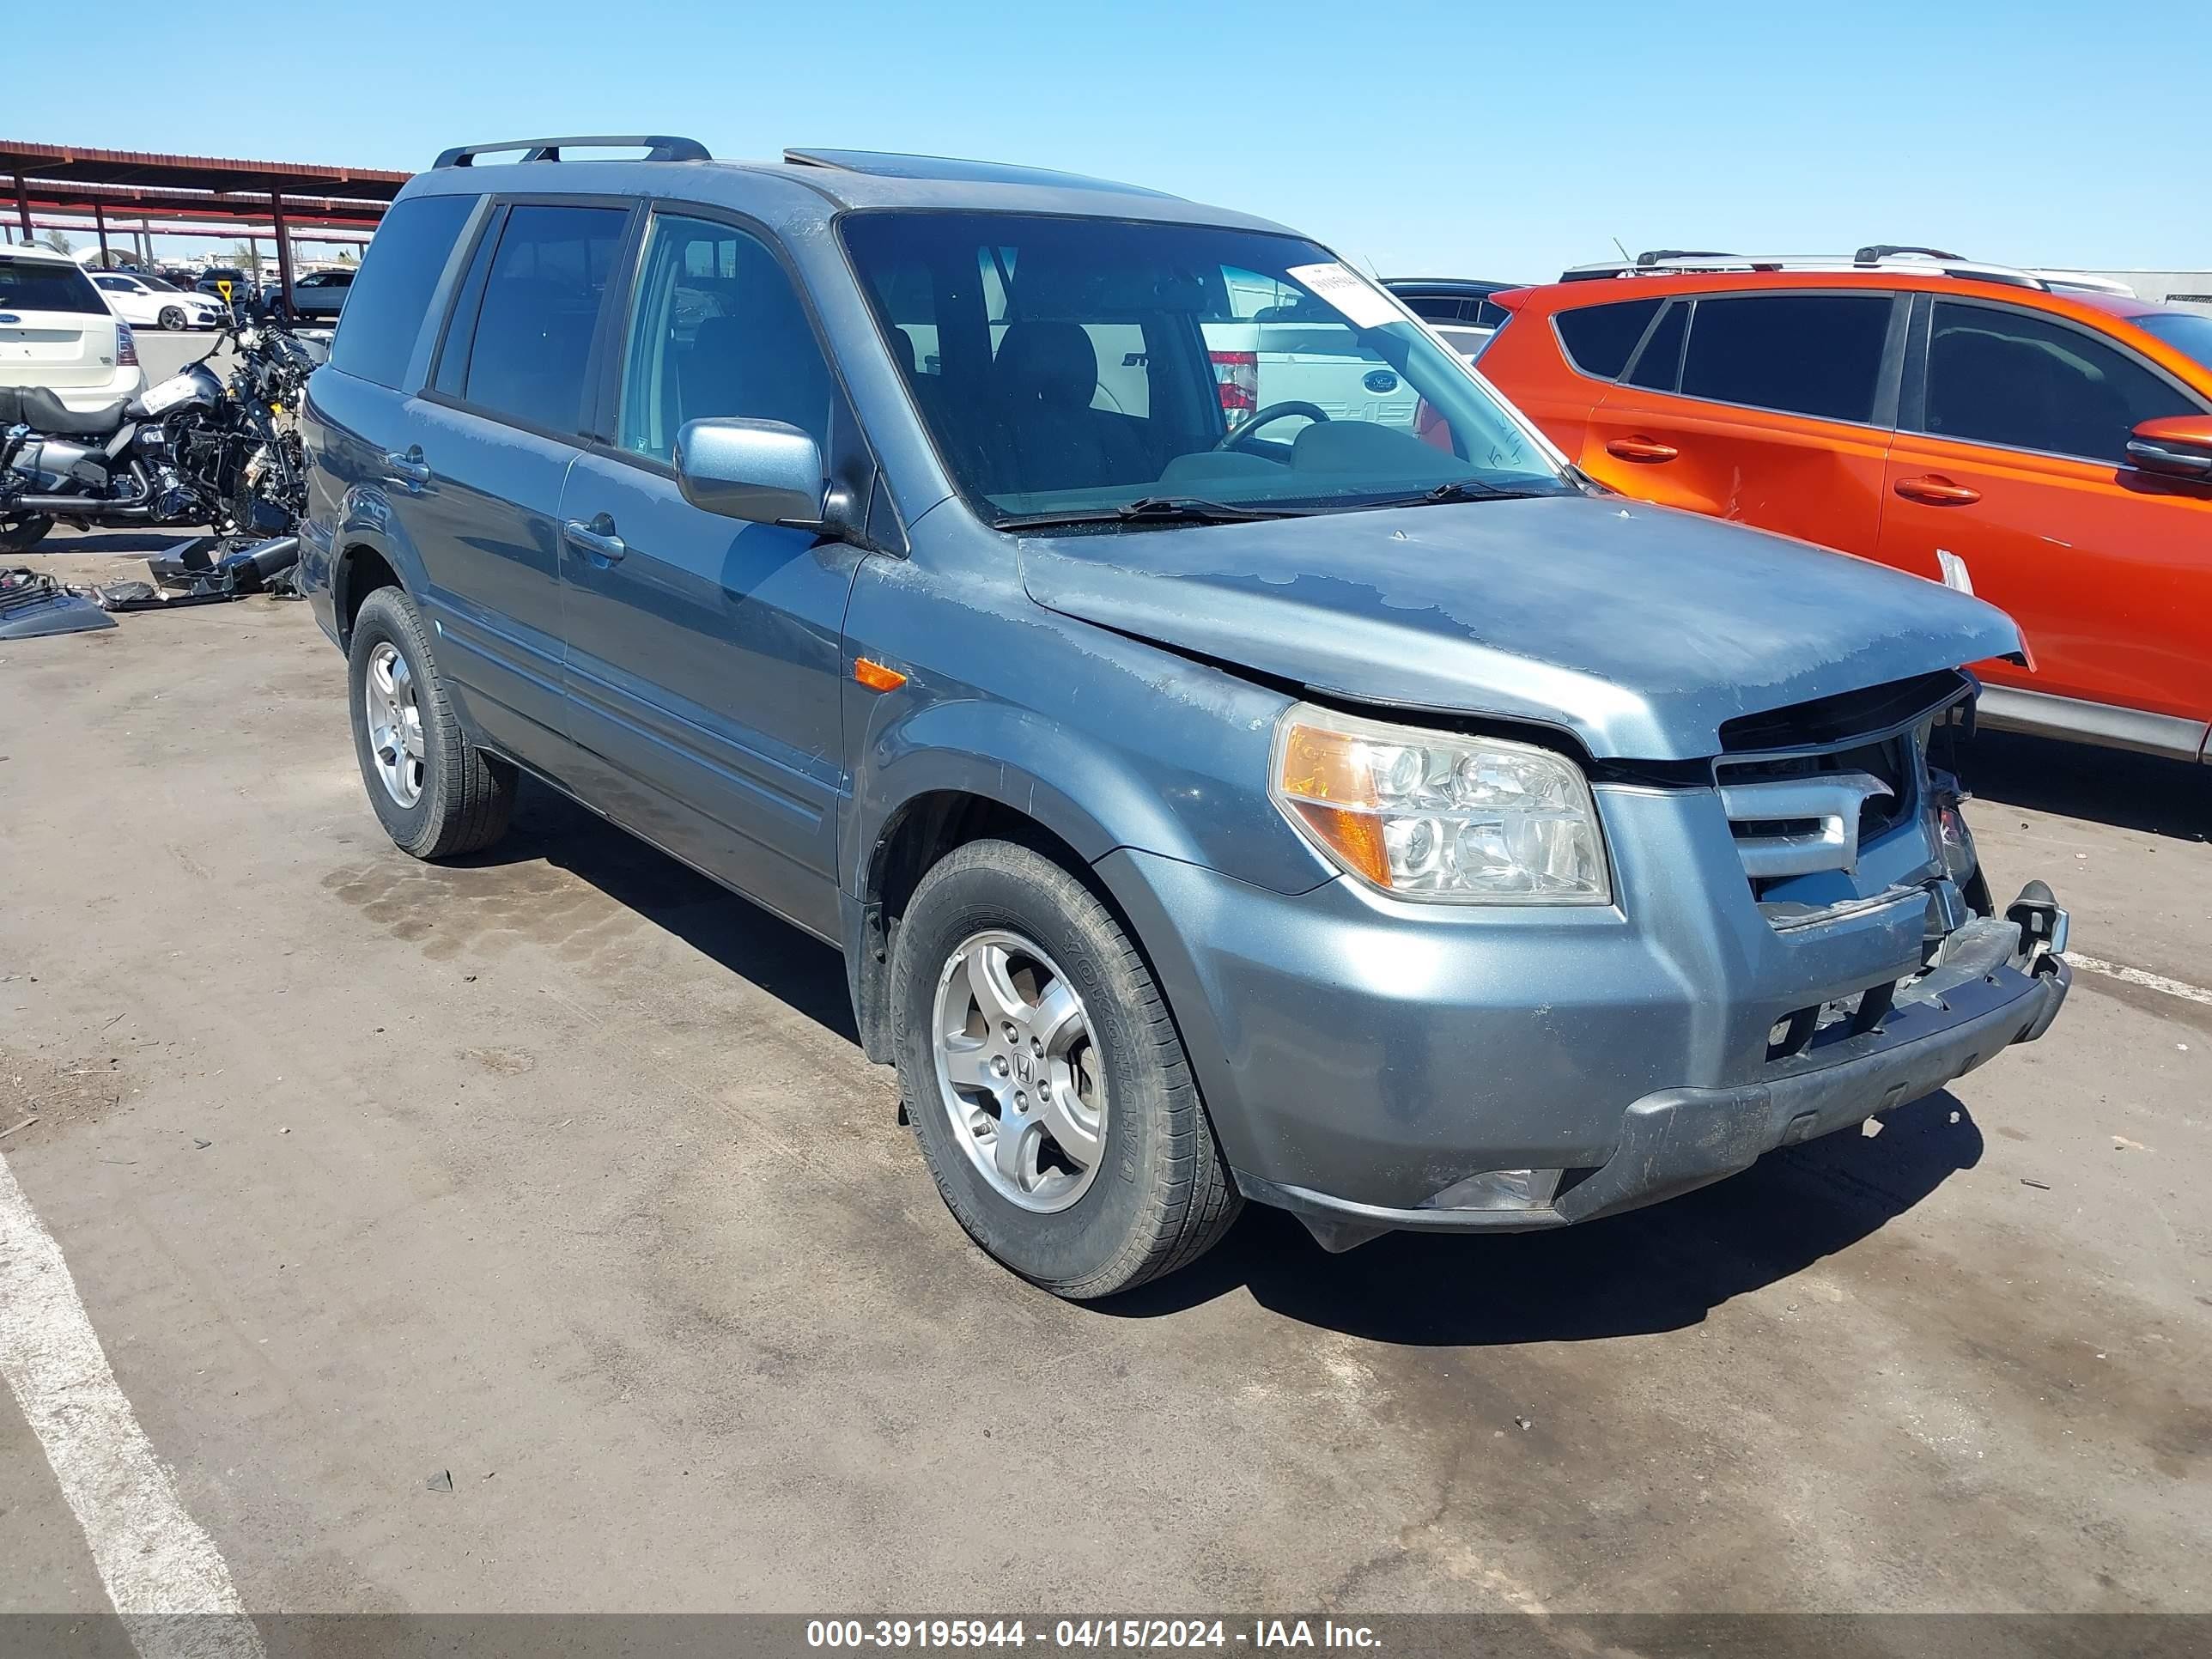
[[[210,367],[226,345],[228,380]],[[80,411],[46,387],[0,387],[0,553],[22,553],[55,522],[288,533],[307,484],[281,416],[316,367],[279,319],[241,310],[206,356],[128,403]]]

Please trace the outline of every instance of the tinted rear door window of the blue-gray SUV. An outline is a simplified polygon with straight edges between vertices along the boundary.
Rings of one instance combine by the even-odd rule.
[[[509,208],[460,374],[460,398],[551,431],[584,418],[584,369],[626,208]],[[345,314],[361,305],[349,299]],[[467,314],[456,314],[456,332]],[[453,343],[440,358],[447,380]]]

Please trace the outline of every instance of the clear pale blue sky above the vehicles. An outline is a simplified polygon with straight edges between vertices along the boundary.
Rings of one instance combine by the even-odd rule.
[[[168,0],[100,15],[128,73],[86,100],[15,64],[7,137],[361,166],[577,131],[975,155],[1261,212],[1385,274],[1544,279],[1613,237],[2212,265],[2212,24],[2188,7],[274,0],[237,15],[332,22],[248,44]]]

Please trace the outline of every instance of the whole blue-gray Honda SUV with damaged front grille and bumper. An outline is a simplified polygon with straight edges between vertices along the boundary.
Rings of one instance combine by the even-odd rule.
[[[2066,995],[1929,763],[2004,615],[1597,489],[1281,226],[449,150],[303,429],[392,838],[531,772],[841,947],[947,1206],[1064,1296],[1243,1199],[1338,1250],[1650,1203]]]

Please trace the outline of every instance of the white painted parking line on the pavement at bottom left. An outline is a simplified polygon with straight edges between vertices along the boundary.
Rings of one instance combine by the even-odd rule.
[[[77,1301],[62,1248],[15,1186],[7,1159],[0,1159],[0,1374],[38,1433],[108,1601],[144,1659],[259,1659],[261,1637],[230,1568],[153,1455]]]

